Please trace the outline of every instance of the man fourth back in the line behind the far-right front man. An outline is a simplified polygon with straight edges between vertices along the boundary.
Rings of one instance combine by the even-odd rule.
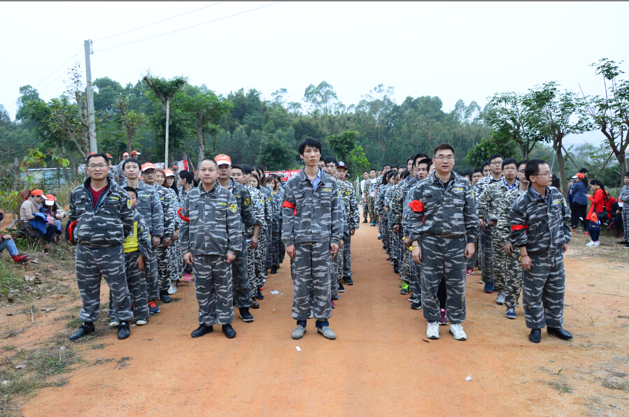
[[[493,154],[489,157],[490,174],[481,178],[474,186],[474,198],[476,205],[483,195],[485,189],[494,182],[502,180],[502,155]],[[486,219],[479,218],[479,249],[481,250],[481,267],[482,279],[485,283],[484,291],[488,294],[493,293],[494,276],[493,276],[493,251],[491,246],[491,233],[493,224],[485,224]]]

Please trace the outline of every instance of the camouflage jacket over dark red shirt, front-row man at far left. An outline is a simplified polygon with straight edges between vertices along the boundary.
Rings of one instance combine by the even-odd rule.
[[[77,221],[73,239],[90,247],[110,247],[125,242],[133,231],[131,200],[115,181],[108,184],[94,209],[90,177],[70,195],[70,221]]]

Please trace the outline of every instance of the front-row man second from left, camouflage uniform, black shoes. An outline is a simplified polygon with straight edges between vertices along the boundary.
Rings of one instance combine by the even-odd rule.
[[[231,324],[234,302],[229,263],[242,250],[242,224],[236,198],[216,181],[216,161],[201,161],[199,177],[201,184],[185,196],[181,210],[181,250],[185,262],[194,270],[199,302],[199,328],[191,336],[212,332],[218,323],[231,339],[236,332]]]

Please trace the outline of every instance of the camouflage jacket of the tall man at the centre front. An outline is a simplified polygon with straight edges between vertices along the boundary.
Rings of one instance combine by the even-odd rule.
[[[287,246],[304,242],[338,244],[343,231],[337,182],[322,171],[313,189],[304,169],[284,187],[284,201],[295,209],[282,209],[282,241]]]

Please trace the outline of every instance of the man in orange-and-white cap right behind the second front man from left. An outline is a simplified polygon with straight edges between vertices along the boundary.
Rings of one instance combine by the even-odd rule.
[[[252,239],[255,232],[257,242],[260,225],[255,228],[249,190],[232,178],[232,159],[225,154],[220,154],[216,155],[215,161],[218,163],[218,183],[236,198],[236,214],[240,216],[243,224],[241,250],[236,254],[236,259],[232,261],[232,297],[234,304],[239,309],[239,317],[245,323],[250,323],[253,321],[253,315],[249,312],[252,298],[247,268],[247,240]]]

